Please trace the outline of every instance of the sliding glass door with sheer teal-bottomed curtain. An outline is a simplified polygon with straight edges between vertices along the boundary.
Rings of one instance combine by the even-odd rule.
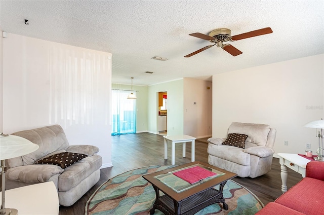
[[[130,93],[129,90],[111,91],[111,135],[136,133],[136,99],[128,99]]]

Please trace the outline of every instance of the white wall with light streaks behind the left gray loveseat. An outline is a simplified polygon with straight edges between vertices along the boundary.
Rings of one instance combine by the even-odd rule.
[[[63,127],[70,145],[99,147],[111,166],[111,54],[8,33],[3,128]]]

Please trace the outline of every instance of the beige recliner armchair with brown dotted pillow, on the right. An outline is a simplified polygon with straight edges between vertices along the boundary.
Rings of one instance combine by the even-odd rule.
[[[239,177],[254,178],[271,170],[275,129],[264,124],[233,122],[227,135],[208,139],[209,164]]]

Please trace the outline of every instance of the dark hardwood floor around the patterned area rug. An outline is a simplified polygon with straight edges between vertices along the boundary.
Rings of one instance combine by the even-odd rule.
[[[186,158],[182,157],[182,144],[176,144],[175,164],[191,162],[191,144],[186,144]],[[208,163],[206,142],[195,141],[195,160]],[[113,167],[101,169],[99,182],[72,206],[60,206],[60,215],[85,214],[85,205],[94,191],[109,178],[135,168],[155,165],[171,165],[171,147],[168,148],[168,160],[164,160],[163,136],[151,133],[124,134],[112,136]],[[256,178],[235,177],[233,181],[253,192],[265,205],[281,195],[279,159],[273,158],[271,171]],[[288,189],[302,179],[302,176],[288,169]],[[119,215],[119,214],[118,214]],[[121,214],[120,214],[121,215]]]

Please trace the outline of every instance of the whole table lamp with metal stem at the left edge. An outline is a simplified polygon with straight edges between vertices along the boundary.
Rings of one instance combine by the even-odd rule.
[[[5,208],[5,173],[7,171],[6,159],[19,157],[29,154],[38,149],[38,145],[33,144],[28,139],[20,136],[3,134],[0,132],[0,173],[1,173],[1,191],[2,203],[0,208],[0,215],[16,215],[17,209]]]

